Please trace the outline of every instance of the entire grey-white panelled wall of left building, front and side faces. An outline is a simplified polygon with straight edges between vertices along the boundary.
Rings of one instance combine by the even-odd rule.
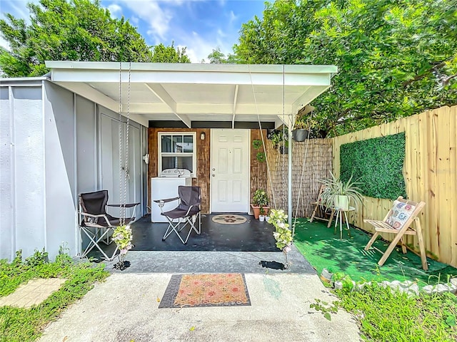
[[[119,201],[119,115],[49,81],[2,83],[0,142],[0,259],[43,248],[54,259],[62,244],[78,254],[78,194],[103,188]],[[131,121],[128,201],[146,198],[146,150],[146,128]]]

